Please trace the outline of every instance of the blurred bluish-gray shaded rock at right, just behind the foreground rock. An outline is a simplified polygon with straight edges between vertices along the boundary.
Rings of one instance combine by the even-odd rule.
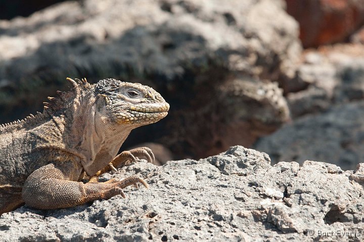
[[[277,132],[261,138],[254,148],[266,152],[273,163],[319,160],[355,169],[364,159],[364,101],[338,105],[327,112],[297,118]],[[331,169],[332,170],[332,169]]]

